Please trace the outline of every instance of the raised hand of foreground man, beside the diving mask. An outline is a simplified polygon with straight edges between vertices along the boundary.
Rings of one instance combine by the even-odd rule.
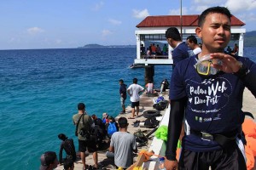
[[[212,65],[219,71],[234,73],[239,71],[239,69],[241,68],[240,62],[229,54],[214,53],[211,54],[211,59],[219,59],[222,61],[222,65]]]

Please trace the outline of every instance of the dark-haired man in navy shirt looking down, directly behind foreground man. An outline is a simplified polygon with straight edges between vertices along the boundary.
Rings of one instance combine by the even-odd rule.
[[[177,65],[177,62],[189,58],[191,50],[189,49],[188,45],[182,41],[176,27],[170,27],[166,30],[166,40],[169,45],[174,48],[172,51],[173,68],[175,65]]]

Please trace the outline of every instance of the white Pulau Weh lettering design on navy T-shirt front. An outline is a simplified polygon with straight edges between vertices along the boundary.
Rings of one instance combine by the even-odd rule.
[[[196,113],[217,113],[229,102],[231,91],[230,82],[224,77],[205,79],[202,82],[189,80],[187,83],[189,109]],[[218,119],[219,116],[216,118]]]

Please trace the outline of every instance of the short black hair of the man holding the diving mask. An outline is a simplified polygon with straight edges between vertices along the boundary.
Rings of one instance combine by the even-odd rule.
[[[201,27],[203,26],[207,14],[211,14],[211,13],[218,13],[218,14],[225,14],[230,20],[231,20],[231,14],[230,14],[230,10],[228,8],[225,7],[212,7],[212,8],[207,8],[205,11],[203,11],[201,13],[201,15],[199,16],[198,19],[198,26]]]

